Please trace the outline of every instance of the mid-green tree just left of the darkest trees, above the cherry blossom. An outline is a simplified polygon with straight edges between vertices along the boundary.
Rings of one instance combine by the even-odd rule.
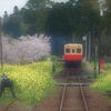
[[[44,24],[52,2],[49,0],[29,0],[22,9],[23,21],[28,26],[28,34],[44,32]]]

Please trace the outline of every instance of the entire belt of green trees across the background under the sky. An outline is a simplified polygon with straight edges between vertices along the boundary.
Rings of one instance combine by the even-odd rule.
[[[52,50],[62,48],[73,37],[81,40],[88,33],[93,40],[99,34],[111,37],[111,0],[98,1],[69,0],[54,3],[50,0],[28,0],[21,10],[14,6],[12,14],[4,12],[2,29],[13,38],[36,33],[51,36]]]

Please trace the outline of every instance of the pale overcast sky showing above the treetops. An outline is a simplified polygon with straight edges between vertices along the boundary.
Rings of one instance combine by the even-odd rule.
[[[13,12],[13,7],[18,6],[21,9],[28,0],[0,0],[0,17],[3,17],[4,11],[8,11],[8,14]],[[52,0],[54,2],[65,2],[68,0]]]

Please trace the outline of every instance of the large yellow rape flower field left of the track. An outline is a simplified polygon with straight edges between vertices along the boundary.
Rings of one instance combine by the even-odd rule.
[[[14,92],[19,100],[37,104],[50,92],[56,91],[51,67],[51,61],[24,65],[4,64],[3,70],[0,69],[0,77],[4,72],[9,79],[13,80]]]

